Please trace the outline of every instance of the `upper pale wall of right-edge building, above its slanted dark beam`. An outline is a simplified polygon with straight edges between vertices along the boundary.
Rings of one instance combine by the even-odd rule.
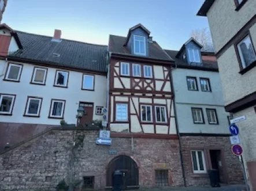
[[[216,52],[256,14],[256,1],[248,0],[238,12],[235,9],[233,0],[216,0],[207,13]]]

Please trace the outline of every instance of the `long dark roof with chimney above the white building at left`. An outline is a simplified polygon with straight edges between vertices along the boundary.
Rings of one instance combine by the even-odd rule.
[[[62,39],[60,43],[52,37],[17,31],[23,45],[9,58],[24,59],[52,66],[64,66],[82,70],[106,72],[107,46]],[[54,56],[53,54],[60,54]]]

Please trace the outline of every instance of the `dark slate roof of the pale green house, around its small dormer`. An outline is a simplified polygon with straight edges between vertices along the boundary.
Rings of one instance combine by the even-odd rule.
[[[194,66],[194,65],[190,65],[187,62],[184,62],[184,60],[181,60],[179,58],[176,58],[176,55],[179,51],[172,51],[172,50],[167,50],[165,49],[165,52],[173,59],[175,59],[175,64],[177,65],[177,67],[181,67],[181,68],[191,68],[191,69],[198,69],[198,70],[218,70],[218,65],[217,62],[214,61],[209,61],[209,60],[203,60],[203,64],[202,66]],[[210,54],[212,54],[212,52],[210,52]]]

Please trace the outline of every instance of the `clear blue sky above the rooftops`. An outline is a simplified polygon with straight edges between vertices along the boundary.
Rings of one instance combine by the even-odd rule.
[[[192,29],[208,27],[196,13],[204,0],[9,0],[2,22],[14,30],[107,44],[141,23],[162,48],[180,49]]]

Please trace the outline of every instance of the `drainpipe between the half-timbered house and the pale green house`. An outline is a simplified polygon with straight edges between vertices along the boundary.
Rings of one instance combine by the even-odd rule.
[[[170,71],[172,71],[173,69],[176,69],[177,65],[175,64],[175,68],[170,68]],[[174,114],[175,114],[175,122],[176,122],[176,131],[177,131],[177,135],[179,137],[179,146],[180,146],[180,164],[181,164],[181,170],[182,170],[182,176],[183,176],[183,182],[184,182],[184,186],[187,187],[187,183],[185,181],[185,172],[184,172],[184,163],[183,163],[183,154],[182,154],[182,146],[181,146],[181,136],[180,136],[180,131],[179,131],[179,123],[177,120],[177,115],[176,115],[176,104],[175,104],[175,94],[174,94],[174,87],[173,87],[173,78],[172,78],[172,72],[170,72],[170,88],[172,89],[173,92],[173,109],[174,109]]]

